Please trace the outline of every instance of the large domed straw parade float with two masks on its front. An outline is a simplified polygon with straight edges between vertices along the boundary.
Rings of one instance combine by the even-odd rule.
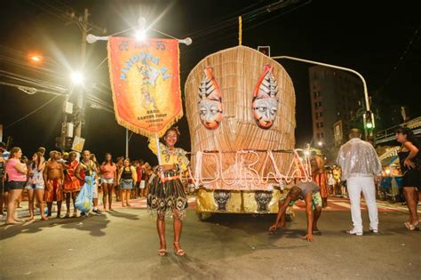
[[[192,170],[199,165],[195,155],[204,152],[201,176],[226,179],[203,183],[197,211],[275,212],[279,190],[267,196],[270,202],[257,192],[272,192],[271,184],[278,183],[258,184],[255,175],[273,171],[265,163],[266,151],[295,147],[295,92],[285,69],[254,49],[236,46],[201,60],[187,77],[185,97]],[[243,150],[254,152],[239,156]],[[292,158],[292,154],[274,153],[279,172],[288,172]],[[244,172],[250,164],[255,172]],[[238,180],[240,173],[242,180]],[[229,197],[226,207],[218,204],[214,190],[230,192],[224,196]]]

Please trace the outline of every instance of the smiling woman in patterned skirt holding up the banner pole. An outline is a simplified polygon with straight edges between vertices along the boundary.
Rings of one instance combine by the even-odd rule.
[[[172,215],[174,224],[174,252],[183,256],[184,251],[179,245],[179,237],[181,235],[182,220],[186,215],[187,196],[184,192],[183,185],[180,180],[180,173],[187,171],[189,161],[186,151],[182,148],[175,148],[177,140],[179,140],[179,130],[171,127],[163,136],[165,145],[160,145],[160,155],[156,146],[156,140],[149,139],[149,148],[160,156],[161,165],[158,168],[158,176],[152,181],[149,194],[147,196],[148,207],[156,212],[156,228],[159,236],[159,252],[160,256],[165,256],[165,216]]]

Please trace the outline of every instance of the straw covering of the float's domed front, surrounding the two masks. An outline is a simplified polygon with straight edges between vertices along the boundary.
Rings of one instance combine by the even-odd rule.
[[[274,125],[270,129],[261,129],[256,124],[251,109],[253,90],[262,75],[265,65],[273,67],[272,73],[277,80],[278,111]],[[218,129],[206,129],[199,116],[198,90],[203,78],[203,69],[213,68],[213,75],[222,92],[223,120]],[[192,152],[218,150],[221,152],[242,149],[292,149],[295,147],[295,92],[290,76],[281,64],[266,55],[245,46],[236,46],[213,53],[200,61],[187,77],[185,85],[186,115],[192,142]],[[266,154],[259,153],[260,160],[254,165],[259,173],[264,172],[263,163]],[[282,173],[290,167],[292,155],[274,154],[276,164]],[[256,156],[245,156],[245,164],[254,162]],[[195,156],[192,156],[195,167]],[[222,156],[224,177],[233,178],[235,153]],[[270,164],[266,169],[273,171]],[[203,157],[203,177],[212,177],[217,171],[217,164],[211,156]],[[214,183],[211,188],[224,188]],[[232,188],[232,187],[228,187]]]

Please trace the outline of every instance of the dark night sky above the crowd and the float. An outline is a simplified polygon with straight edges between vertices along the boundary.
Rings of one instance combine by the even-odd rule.
[[[107,28],[107,35],[131,28],[139,16],[155,22],[154,28],[179,38],[191,36],[193,44],[180,45],[181,88],[189,71],[212,52],[238,44],[236,17],[243,18],[242,44],[257,48],[270,45],[272,55],[290,55],[318,60],[359,71],[367,80],[373,104],[409,106],[409,115],[421,116],[421,13],[417,1],[286,1],[286,8],[261,12],[272,1],[2,1],[0,12],[0,70],[41,79],[68,87],[68,73],[79,67],[81,33],[66,19],[72,9],[82,14],[90,10],[90,21]],[[255,12],[252,12],[255,11]],[[418,33],[417,33],[418,30]],[[91,33],[100,35],[98,31]],[[151,37],[159,37],[150,32]],[[125,33],[122,36],[131,36]],[[411,43],[410,43],[411,42]],[[42,68],[28,67],[28,54],[40,53],[58,61]],[[106,43],[88,44],[84,72],[87,84],[97,84],[92,94],[110,105]],[[312,137],[311,107],[308,86],[309,65],[282,61],[294,85],[297,97],[298,145]],[[1,82],[13,82],[0,72]],[[362,95],[362,91],[361,91]],[[30,155],[39,146],[54,148],[60,135],[62,98],[58,97],[36,114],[12,126],[16,120],[39,108],[54,95],[37,92],[29,95],[0,85],[0,124],[4,140],[12,136],[13,145]],[[183,117],[178,124],[182,132],[179,146],[187,150],[189,133]],[[105,152],[123,156],[125,130],[113,114],[95,108],[86,109],[85,148],[102,160]],[[155,163],[147,149],[147,140],[131,137],[131,158]]]

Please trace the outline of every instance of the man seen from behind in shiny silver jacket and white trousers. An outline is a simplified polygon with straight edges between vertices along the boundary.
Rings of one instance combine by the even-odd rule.
[[[352,129],[347,141],[338,153],[337,163],[342,168],[342,180],[347,181],[348,196],[351,200],[353,228],[348,234],[362,236],[361,191],[369,210],[369,230],[378,232],[376,185],[382,172],[382,165],[376,150],[367,141],[361,140],[358,129]]]

